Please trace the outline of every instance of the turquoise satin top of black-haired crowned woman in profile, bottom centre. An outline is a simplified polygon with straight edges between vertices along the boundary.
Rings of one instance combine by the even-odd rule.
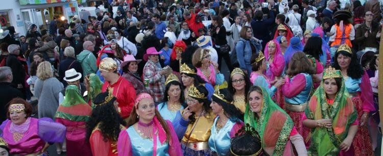
[[[219,117],[214,119],[209,138],[210,150],[217,152],[218,155],[230,155],[230,132],[235,122],[227,120],[224,127],[217,131],[216,124]]]

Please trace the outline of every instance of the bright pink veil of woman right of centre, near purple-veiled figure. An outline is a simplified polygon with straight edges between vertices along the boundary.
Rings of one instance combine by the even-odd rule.
[[[269,81],[273,81],[276,76],[280,76],[284,70],[284,58],[282,51],[280,50],[280,45],[277,40],[271,40],[270,42],[275,43],[275,53],[273,63],[270,64],[269,69],[266,71],[266,76],[269,78]],[[269,43],[265,46],[265,59],[269,60]]]

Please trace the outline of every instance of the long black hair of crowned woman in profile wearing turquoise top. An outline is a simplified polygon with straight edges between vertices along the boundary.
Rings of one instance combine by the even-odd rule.
[[[243,121],[244,120],[244,114],[236,108],[234,105],[231,105],[231,102],[233,101],[233,96],[229,92],[228,89],[220,89],[220,94],[224,95],[224,99],[227,100],[228,102],[225,102],[224,100],[218,98],[215,94],[211,96],[211,100],[214,102],[217,102],[218,105],[224,109],[224,114],[229,117],[230,121],[233,122],[240,122],[239,120]],[[239,120],[238,120],[239,119]]]

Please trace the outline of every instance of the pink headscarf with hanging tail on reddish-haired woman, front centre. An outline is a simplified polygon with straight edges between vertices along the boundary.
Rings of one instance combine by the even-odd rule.
[[[137,110],[139,101],[141,101],[144,98],[150,98],[153,100],[153,97],[148,93],[138,94],[136,99],[134,100],[134,107],[136,108],[136,110]],[[158,138],[159,138],[161,144],[163,144],[166,141],[166,133],[165,133],[164,129],[162,128],[161,123],[158,121],[157,116],[154,116],[153,123],[154,123],[154,126],[153,126],[153,156],[155,156],[157,153],[156,131],[158,131]]]

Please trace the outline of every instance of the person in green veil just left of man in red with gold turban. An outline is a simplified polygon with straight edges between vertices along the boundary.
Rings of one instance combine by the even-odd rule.
[[[87,102],[93,108],[94,107],[94,98],[99,95],[102,91],[103,82],[101,82],[98,75],[91,73],[85,76],[84,81],[86,91],[87,91]]]

